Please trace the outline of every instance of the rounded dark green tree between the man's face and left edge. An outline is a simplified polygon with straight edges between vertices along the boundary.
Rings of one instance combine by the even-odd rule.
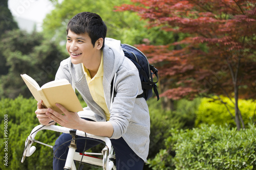
[[[0,51],[9,66],[8,74],[0,77],[0,96],[16,98],[31,96],[20,74],[28,74],[41,86],[54,80],[59,63],[67,55],[61,53],[56,42],[42,34],[14,30],[2,36]]]

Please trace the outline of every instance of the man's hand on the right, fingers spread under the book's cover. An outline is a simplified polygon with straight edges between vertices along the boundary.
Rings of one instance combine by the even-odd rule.
[[[62,111],[62,113],[58,113],[53,109],[48,108],[46,115],[60,126],[78,129],[78,125],[81,123],[82,119],[78,116],[77,112],[69,112],[65,107],[57,103],[56,106]]]

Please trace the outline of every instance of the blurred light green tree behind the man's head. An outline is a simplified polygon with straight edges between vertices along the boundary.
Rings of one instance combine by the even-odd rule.
[[[54,38],[59,42],[66,41],[66,28],[68,21],[77,13],[89,11],[99,14],[108,27],[107,37],[121,40],[122,43],[140,44],[152,42],[162,44],[173,38],[172,34],[167,34],[159,28],[148,30],[146,21],[133,12],[115,12],[116,6],[123,3],[130,3],[130,0],[87,0],[77,3],[75,0],[64,0],[61,4],[52,1],[55,9],[44,19],[44,34],[48,38]],[[72,9],[72,10],[70,10]]]

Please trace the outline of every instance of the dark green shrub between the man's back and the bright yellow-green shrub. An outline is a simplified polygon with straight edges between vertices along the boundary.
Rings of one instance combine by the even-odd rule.
[[[200,100],[179,100],[175,111],[166,111],[161,108],[161,103],[156,99],[147,101],[151,118],[150,153],[148,158],[154,158],[160,149],[164,148],[164,139],[169,137],[166,133],[170,129],[192,128],[195,124],[195,112]]]

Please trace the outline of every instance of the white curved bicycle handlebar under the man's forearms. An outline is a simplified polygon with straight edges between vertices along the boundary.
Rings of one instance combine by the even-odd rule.
[[[52,130],[52,131],[55,131],[55,132],[70,133],[70,130],[72,130],[72,129],[61,127],[61,126],[56,126],[56,125],[50,125],[50,126],[38,125],[38,126],[36,126],[31,131],[28,138],[26,139],[25,149],[24,149],[23,157],[22,157],[22,163],[24,162],[26,156],[29,157],[35,152],[36,148],[34,146],[31,147],[33,142],[38,142],[40,144],[45,144],[45,143],[42,143],[42,142],[39,142],[39,141],[35,140],[35,136],[36,136],[37,132],[39,132],[41,130]],[[96,136],[96,135],[92,135],[92,134],[89,134],[89,133],[86,134],[83,131],[79,131],[79,130],[76,130],[76,135],[83,136],[83,137],[94,138],[94,139],[100,139],[100,140],[105,142],[106,147],[108,147],[108,149],[110,149],[111,146],[112,146],[111,141],[108,137]],[[48,145],[48,144],[45,144],[45,145]],[[52,148],[52,146],[50,146],[50,145],[48,145],[48,147]]]

